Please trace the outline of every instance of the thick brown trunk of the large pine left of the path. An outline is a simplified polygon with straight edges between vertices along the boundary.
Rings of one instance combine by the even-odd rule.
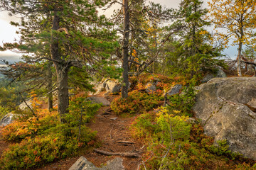
[[[53,16],[53,27],[52,30],[58,30],[60,23],[60,16],[57,11],[54,12]],[[50,46],[51,58],[57,72],[58,81],[58,113],[60,114],[60,121],[65,123],[65,114],[68,113],[68,63],[61,59],[59,52],[58,40],[52,34],[52,42]]]

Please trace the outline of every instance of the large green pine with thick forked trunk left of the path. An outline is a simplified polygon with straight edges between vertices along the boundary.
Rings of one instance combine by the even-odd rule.
[[[109,27],[111,23],[107,22],[105,16],[97,16],[96,8],[103,5],[105,5],[105,1],[100,0],[6,0],[0,2],[1,8],[24,16],[21,30],[26,32],[28,26],[34,30],[31,35],[23,35],[23,40],[34,39],[36,45],[21,41],[16,43],[18,45],[16,48],[21,50],[21,47],[31,47],[31,49],[38,50],[40,46],[48,47],[48,50],[45,51],[47,55],[43,55],[40,60],[49,60],[55,66],[58,113],[62,122],[64,122],[65,113],[68,113],[68,74],[70,69],[78,67],[86,72],[106,69],[107,58],[110,57],[114,47],[118,45],[117,42],[112,41],[114,33],[105,28]],[[33,28],[33,21],[40,23],[40,29]],[[100,30],[96,28],[97,26],[101,26],[98,27]]]

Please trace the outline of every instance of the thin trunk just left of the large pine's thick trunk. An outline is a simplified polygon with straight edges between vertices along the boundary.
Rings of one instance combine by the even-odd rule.
[[[51,66],[52,66],[52,62],[50,62],[48,64],[48,68],[47,68],[47,80],[48,80],[48,84],[47,84],[47,90],[48,91],[52,91],[53,90],[53,73],[51,71]],[[50,92],[48,94],[48,111],[52,111],[53,110],[53,92]]]

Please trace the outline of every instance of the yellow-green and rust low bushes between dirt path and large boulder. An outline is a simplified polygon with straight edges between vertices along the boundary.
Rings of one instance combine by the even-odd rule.
[[[255,163],[242,165],[240,155],[230,152],[225,141],[213,145],[213,137],[204,135],[200,124],[191,125],[188,116],[177,113],[162,107],[137,116],[132,123],[132,135],[148,146],[143,159],[146,169],[252,169]]]

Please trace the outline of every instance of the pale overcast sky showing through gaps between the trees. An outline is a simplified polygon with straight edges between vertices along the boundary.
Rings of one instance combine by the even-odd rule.
[[[178,8],[178,4],[180,3],[180,0],[151,0],[154,1],[156,4],[161,4],[162,6],[166,6],[168,8]],[[203,0],[205,3],[203,6],[207,8],[207,1],[209,0]],[[106,16],[108,13],[105,13]],[[11,26],[9,23],[10,21],[18,21],[19,18],[16,16],[10,17],[6,11],[0,11],[0,45],[2,45],[2,42],[14,42],[15,39],[18,39],[18,35],[16,35],[17,28],[14,26]],[[237,55],[236,47],[230,47],[229,49],[225,50],[223,52],[224,55],[229,55],[230,57],[234,57]],[[18,58],[21,56],[21,54],[17,54],[11,51],[6,52],[0,52],[0,60],[6,59],[10,62],[17,61]]]

